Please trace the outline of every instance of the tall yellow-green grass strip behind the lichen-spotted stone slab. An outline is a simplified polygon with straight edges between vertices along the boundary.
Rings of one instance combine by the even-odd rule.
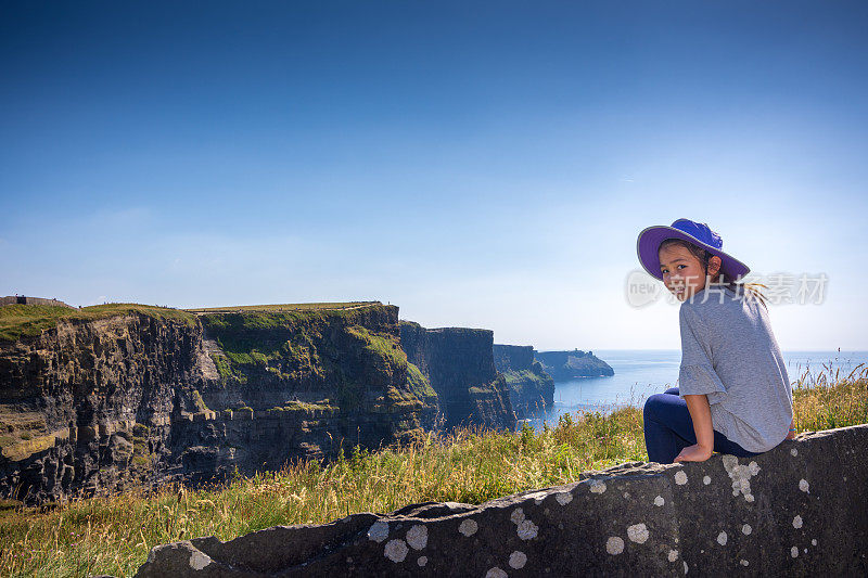
[[[868,423],[868,368],[793,387],[800,432]],[[646,461],[641,410],[563,415],[536,433],[458,429],[403,448],[356,448],[330,464],[296,462],[225,487],[164,487],[73,501],[49,512],[0,504],[0,570],[9,576],[129,576],[161,543],[227,540],[278,524],[323,524],[410,503],[482,503],[565,484],[580,472]]]

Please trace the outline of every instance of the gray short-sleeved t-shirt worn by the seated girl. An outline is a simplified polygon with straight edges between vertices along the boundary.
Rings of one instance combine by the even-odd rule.
[[[793,397],[764,303],[712,285],[681,303],[679,395],[706,394],[712,426],[748,451],[787,437]]]

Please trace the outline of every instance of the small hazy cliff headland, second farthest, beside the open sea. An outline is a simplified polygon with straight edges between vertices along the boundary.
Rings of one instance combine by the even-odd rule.
[[[495,368],[509,386],[516,418],[522,419],[554,403],[554,380],[534,360],[533,346],[494,345]]]

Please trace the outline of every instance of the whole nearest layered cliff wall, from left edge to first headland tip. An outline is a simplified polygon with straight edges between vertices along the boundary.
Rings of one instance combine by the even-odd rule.
[[[434,424],[397,307],[166,311],[75,313],[0,341],[0,494],[40,503],[204,480]]]

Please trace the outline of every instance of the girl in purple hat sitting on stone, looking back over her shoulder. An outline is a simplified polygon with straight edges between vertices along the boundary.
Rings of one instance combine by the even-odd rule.
[[[644,404],[652,462],[701,462],[713,451],[757,455],[795,437],[792,390],[758,284],[707,224],[678,219],[639,233],[642,267],[681,301],[680,387]],[[758,285],[765,286],[765,285]]]

